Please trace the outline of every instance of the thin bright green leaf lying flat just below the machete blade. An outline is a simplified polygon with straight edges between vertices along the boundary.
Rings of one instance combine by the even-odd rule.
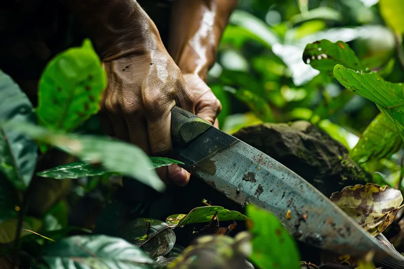
[[[212,221],[216,211],[217,219],[221,221],[242,221],[247,217],[238,211],[228,210],[222,206],[201,206],[193,208],[187,215],[175,214],[167,217],[166,222],[173,226],[184,226],[193,223],[204,223]],[[180,220],[178,220],[181,218]]]

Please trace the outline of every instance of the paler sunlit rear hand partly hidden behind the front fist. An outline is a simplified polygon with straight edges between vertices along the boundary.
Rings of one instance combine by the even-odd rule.
[[[219,128],[217,116],[222,110],[222,105],[215,94],[213,94],[211,88],[195,74],[183,75],[189,90],[193,94],[195,100],[195,114],[196,116],[203,118],[210,122],[216,128]],[[191,174],[177,165],[171,165],[168,167],[169,177],[181,175],[181,181],[177,181],[178,185],[185,185],[188,183]]]

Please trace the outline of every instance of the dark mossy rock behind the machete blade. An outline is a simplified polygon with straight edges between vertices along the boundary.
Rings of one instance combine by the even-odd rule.
[[[273,157],[328,197],[345,186],[371,179],[348,157],[341,143],[309,122],[260,124],[233,136]]]

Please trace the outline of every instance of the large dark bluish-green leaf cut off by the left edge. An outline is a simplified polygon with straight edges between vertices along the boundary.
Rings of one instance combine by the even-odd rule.
[[[37,147],[4,124],[12,119],[35,122],[35,113],[20,87],[0,70],[0,172],[14,186],[25,190],[34,173]]]

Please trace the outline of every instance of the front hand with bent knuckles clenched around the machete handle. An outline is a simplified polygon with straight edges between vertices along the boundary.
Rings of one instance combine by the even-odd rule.
[[[156,43],[153,49],[145,46],[142,53],[104,62],[108,87],[100,120],[109,135],[136,144],[149,155],[162,156],[171,149],[172,107],[177,104],[194,113],[194,98],[164,45]],[[166,183],[168,178],[178,185],[189,180],[179,167],[157,172]]]

